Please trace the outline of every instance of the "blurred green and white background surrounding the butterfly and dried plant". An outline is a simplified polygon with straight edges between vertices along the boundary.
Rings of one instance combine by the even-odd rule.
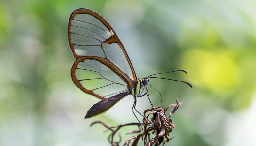
[[[101,125],[89,127],[92,121],[110,126],[136,121],[132,96],[105,114],[84,119],[99,100],[84,94],[70,77],[74,58],[68,17],[79,7],[108,20],[138,77],[188,71],[166,77],[189,81],[193,89],[150,80],[162,93],[164,107],[175,97],[184,102],[172,116],[176,129],[169,145],[256,145],[254,0],[0,1],[0,145],[107,146],[108,132]],[[158,93],[149,92],[160,106]],[[147,98],[138,99],[137,107],[149,108]]]

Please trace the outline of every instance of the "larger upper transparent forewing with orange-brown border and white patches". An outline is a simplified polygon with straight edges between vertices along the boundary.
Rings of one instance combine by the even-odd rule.
[[[137,81],[123,44],[108,22],[96,12],[79,8],[71,13],[68,42],[75,58],[83,56],[106,58],[121,68],[133,81]],[[129,86],[133,85],[129,84]]]

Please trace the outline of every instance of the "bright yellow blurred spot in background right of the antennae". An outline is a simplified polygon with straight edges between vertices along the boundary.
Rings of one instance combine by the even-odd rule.
[[[238,72],[232,57],[232,52],[222,49],[190,49],[181,55],[180,66],[197,86],[225,94],[237,86]]]

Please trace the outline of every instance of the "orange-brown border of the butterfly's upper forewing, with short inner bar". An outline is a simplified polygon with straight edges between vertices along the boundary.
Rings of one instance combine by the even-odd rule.
[[[118,45],[120,46],[120,48],[122,49],[123,53],[124,53],[124,56],[126,58],[126,60],[128,61],[128,64],[131,68],[131,71],[132,71],[132,75],[133,75],[133,79],[134,81],[137,81],[137,77],[136,77],[136,74],[134,72],[134,69],[133,69],[133,66],[132,66],[132,63],[131,63],[131,60],[130,58],[128,57],[127,55],[127,52],[126,50],[124,49],[124,46],[122,44],[122,42],[119,40],[119,38],[117,37],[115,31],[113,30],[113,28],[109,25],[109,23],[102,17],[100,16],[98,13],[90,10],[90,9],[86,9],[86,8],[78,8],[76,10],[74,10],[70,17],[69,17],[69,20],[68,20],[68,42],[69,42],[69,46],[70,46],[70,49],[73,53],[73,56],[74,58],[79,58],[80,56],[77,56],[76,53],[75,53],[75,50],[74,50],[74,46],[73,44],[71,43],[71,40],[69,39],[70,36],[71,36],[71,31],[70,31],[70,27],[71,27],[71,21],[73,20],[73,18],[76,16],[76,14],[89,14],[89,15],[92,15],[93,17],[97,18],[98,20],[100,20],[107,28],[108,30],[110,31],[112,37],[110,37],[108,40],[105,41],[105,43],[108,43],[108,44],[111,44],[113,42],[116,42],[118,43]],[[113,34],[112,34],[113,32]]]

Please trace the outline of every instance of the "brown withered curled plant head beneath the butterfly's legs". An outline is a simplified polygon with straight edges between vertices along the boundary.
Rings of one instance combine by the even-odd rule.
[[[150,109],[146,109],[144,111],[145,117],[151,117],[151,123],[148,122],[147,119],[143,118],[143,129],[144,133],[142,132],[142,129],[140,128],[140,123],[126,123],[122,125],[118,125],[116,127],[109,127],[106,123],[102,121],[95,121],[91,124],[94,125],[96,123],[100,123],[104,125],[107,128],[107,131],[111,131],[110,135],[108,136],[108,142],[111,144],[111,146],[120,146],[120,143],[122,142],[122,136],[118,130],[120,128],[125,126],[137,126],[137,130],[133,130],[131,132],[128,132],[126,134],[133,134],[130,138],[125,140],[125,143],[123,146],[127,145],[129,146],[130,143],[132,143],[131,146],[137,146],[140,138],[144,142],[144,146],[162,146],[165,145],[165,143],[169,142],[172,138],[169,138],[170,133],[172,132],[172,128],[175,128],[174,123],[172,122],[171,116],[172,114],[179,108],[179,106],[182,104],[180,103],[178,98],[176,98],[177,104],[170,104],[168,107],[164,108],[164,110],[161,107],[154,107]],[[172,111],[169,113],[168,116],[166,116],[166,111],[168,108],[173,107]],[[114,141],[115,135],[118,135],[119,141]],[[152,135],[152,136],[151,136]],[[132,142],[133,140],[133,142]]]

